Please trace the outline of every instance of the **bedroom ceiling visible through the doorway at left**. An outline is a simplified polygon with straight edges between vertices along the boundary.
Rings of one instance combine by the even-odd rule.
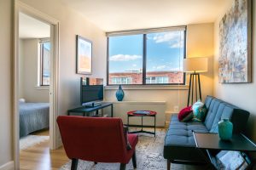
[[[19,14],[19,36],[20,38],[44,38],[50,37],[50,26],[31,16]]]

